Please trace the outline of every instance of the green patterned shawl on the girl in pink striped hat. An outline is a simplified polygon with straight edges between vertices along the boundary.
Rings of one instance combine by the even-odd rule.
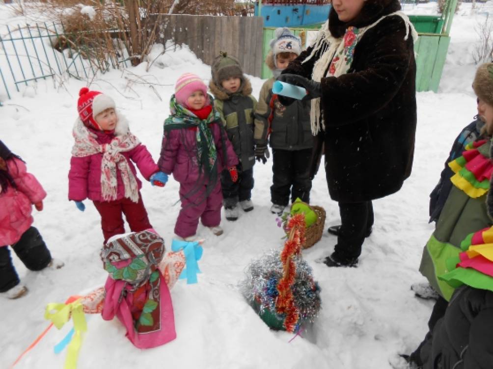
[[[212,98],[209,97],[212,101]],[[217,173],[217,151],[214,136],[209,124],[220,120],[220,114],[212,109],[207,119],[200,119],[190,110],[176,102],[175,95],[170,100],[171,115],[164,121],[164,132],[183,128],[197,128],[197,161],[199,168],[204,170],[209,178]]]

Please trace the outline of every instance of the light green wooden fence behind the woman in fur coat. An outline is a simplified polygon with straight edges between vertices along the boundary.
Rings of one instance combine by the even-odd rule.
[[[410,15],[409,19],[418,32],[414,44],[416,55],[416,91],[438,91],[445,58],[450,44],[450,28],[458,0],[448,0],[442,15]],[[307,36],[320,25],[310,28],[292,28],[307,46]],[[264,27],[264,59],[269,52],[269,43],[274,38],[275,28]],[[272,77],[271,70],[263,64],[262,78]]]

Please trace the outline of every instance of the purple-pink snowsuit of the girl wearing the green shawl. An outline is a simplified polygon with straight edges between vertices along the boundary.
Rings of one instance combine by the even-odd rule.
[[[165,173],[173,173],[175,180],[180,183],[181,210],[175,225],[175,234],[180,237],[195,235],[199,218],[206,227],[215,227],[221,223],[222,194],[219,175],[224,168],[238,164],[233,146],[224,132],[221,137],[221,125],[221,121],[209,124],[217,152],[217,183],[206,199],[207,179],[203,172],[199,175],[197,165],[196,131],[188,128],[175,129],[163,136],[161,156],[157,164]],[[226,158],[223,158],[223,142],[226,145],[226,163]],[[187,151],[187,147],[193,147],[193,152]]]

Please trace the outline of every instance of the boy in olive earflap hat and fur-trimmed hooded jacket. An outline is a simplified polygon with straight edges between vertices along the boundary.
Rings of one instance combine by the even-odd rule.
[[[238,219],[238,201],[244,211],[253,210],[253,112],[257,101],[251,96],[251,84],[235,58],[221,53],[212,65],[209,83],[214,95],[214,108],[220,113],[222,123],[233,144],[239,164],[238,181],[233,182],[228,170],[221,173],[221,188],[227,220]]]

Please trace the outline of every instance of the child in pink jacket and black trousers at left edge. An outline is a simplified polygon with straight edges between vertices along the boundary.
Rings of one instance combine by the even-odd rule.
[[[63,263],[51,258],[38,230],[32,226],[31,208],[43,210],[46,192],[33,174],[26,171],[20,157],[0,141],[0,293],[17,299],[27,292],[12,265],[10,245],[30,270],[48,266],[62,268]]]

